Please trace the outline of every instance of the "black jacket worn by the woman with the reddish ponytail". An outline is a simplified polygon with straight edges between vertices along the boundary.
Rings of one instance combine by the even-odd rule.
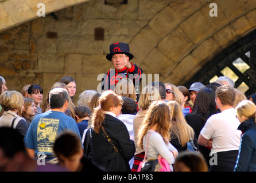
[[[127,172],[130,171],[129,160],[134,156],[135,144],[130,140],[129,132],[122,121],[105,114],[102,124],[111,138],[117,145],[119,152],[115,152],[102,130],[96,133],[91,132],[92,158],[96,164],[102,166],[107,172]]]

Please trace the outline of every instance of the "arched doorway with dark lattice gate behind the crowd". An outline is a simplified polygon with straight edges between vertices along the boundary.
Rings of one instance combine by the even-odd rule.
[[[235,87],[246,96],[256,92],[256,30],[208,62],[185,86],[193,82],[204,85],[226,75],[235,81]]]

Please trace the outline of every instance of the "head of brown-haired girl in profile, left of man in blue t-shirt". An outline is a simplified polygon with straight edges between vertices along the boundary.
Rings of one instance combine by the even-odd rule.
[[[34,100],[32,98],[24,98],[24,109],[21,113],[22,117],[25,119],[28,128],[32,122],[32,117],[36,116],[36,105],[34,105]]]

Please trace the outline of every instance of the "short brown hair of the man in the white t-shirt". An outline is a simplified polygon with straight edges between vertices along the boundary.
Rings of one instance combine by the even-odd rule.
[[[234,105],[235,101],[235,89],[230,85],[219,86],[216,89],[216,97],[219,98],[222,105]]]

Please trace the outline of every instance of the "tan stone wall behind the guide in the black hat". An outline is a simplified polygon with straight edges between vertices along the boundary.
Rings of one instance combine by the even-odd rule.
[[[211,2],[218,5],[218,17],[209,15]],[[116,6],[88,1],[1,31],[0,75],[10,89],[37,83],[45,94],[70,75],[77,100],[83,90],[96,90],[98,75],[113,68],[106,59],[109,45],[127,42],[145,74],[182,85],[253,31],[255,17],[256,0],[129,0]],[[95,40],[97,28],[104,30],[103,40]]]

